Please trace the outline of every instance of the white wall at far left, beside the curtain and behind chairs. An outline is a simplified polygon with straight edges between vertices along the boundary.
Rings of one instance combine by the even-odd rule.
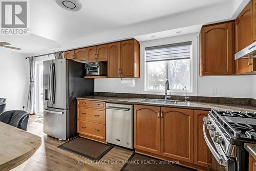
[[[7,98],[7,111],[27,109],[29,60],[25,57],[0,50],[0,98]]]

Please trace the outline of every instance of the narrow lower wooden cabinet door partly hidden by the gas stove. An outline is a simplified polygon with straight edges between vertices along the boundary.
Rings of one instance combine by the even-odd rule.
[[[194,164],[216,168],[216,160],[212,156],[203,135],[203,117],[208,111],[194,110]]]

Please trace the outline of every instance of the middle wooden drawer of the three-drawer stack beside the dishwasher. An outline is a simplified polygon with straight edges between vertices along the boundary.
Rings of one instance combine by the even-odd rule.
[[[78,113],[77,119],[79,120],[105,124],[104,109],[90,109],[90,108],[78,107],[77,113]]]

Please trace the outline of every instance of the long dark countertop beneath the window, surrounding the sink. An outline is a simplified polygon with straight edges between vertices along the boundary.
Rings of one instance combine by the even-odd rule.
[[[238,105],[238,104],[224,104],[224,103],[204,103],[191,101],[190,105],[166,105],[166,104],[155,104],[155,103],[144,103],[140,102],[144,98],[127,98],[127,97],[108,97],[108,96],[85,96],[77,97],[77,99],[83,100],[97,100],[105,101],[109,103],[120,103],[120,104],[141,104],[141,105],[154,105],[154,106],[166,106],[172,108],[184,108],[184,109],[196,109],[210,111],[215,110],[228,110],[228,111],[248,111],[256,112],[256,107],[251,105]]]

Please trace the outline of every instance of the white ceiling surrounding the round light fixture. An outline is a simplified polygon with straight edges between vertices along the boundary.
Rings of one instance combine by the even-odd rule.
[[[62,42],[241,0],[80,1],[82,9],[78,12],[60,8],[55,0],[29,1],[29,28],[32,34],[29,36],[0,36],[0,41],[7,41],[15,47],[22,48],[21,53],[46,52],[59,49]],[[194,30],[192,30],[195,31],[195,28],[193,27]],[[199,31],[200,28],[197,29]],[[170,32],[176,33],[176,30]],[[191,30],[185,29],[181,34],[187,32],[191,32]],[[158,38],[172,36],[168,33],[167,31],[160,34]],[[145,40],[145,38],[142,36],[141,40]]]

